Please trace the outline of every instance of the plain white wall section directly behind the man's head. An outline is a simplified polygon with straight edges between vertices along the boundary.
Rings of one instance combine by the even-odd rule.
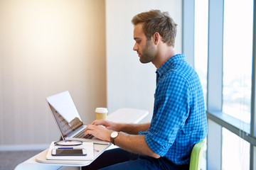
[[[122,107],[149,111],[149,121],[154,107],[156,67],[139,62],[132,50],[132,17],[137,13],[160,9],[178,24],[175,50],[181,53],[182,1],[176,0],[107,0],[107,107],[110,112]]]

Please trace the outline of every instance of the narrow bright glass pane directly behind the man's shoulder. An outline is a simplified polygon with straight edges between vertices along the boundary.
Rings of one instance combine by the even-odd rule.
[[[195,1],[195,69],[206,103],[208,66],[208,0]]]

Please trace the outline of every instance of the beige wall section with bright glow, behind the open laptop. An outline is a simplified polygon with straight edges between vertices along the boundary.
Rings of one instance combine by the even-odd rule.
[[[58,140],[46,96],[61,91],[91,123],[107,106],[105,54],[105,1],[0,0],[0,145]]]

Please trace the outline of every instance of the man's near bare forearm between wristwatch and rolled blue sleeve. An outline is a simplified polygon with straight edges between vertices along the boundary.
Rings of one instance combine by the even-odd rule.
[[[161,157],[149,148],[144,135],[128,135],[119,132],[119,135],[114,139],[114,145],[135,154],[144,154],[154,158]]]

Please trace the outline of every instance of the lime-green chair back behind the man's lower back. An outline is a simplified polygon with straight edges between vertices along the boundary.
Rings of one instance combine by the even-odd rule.
[[[203,147],[206,143],[206,140],[201,140],[193,146],[191,152],[191,160],[189,164],[189,170],[200,170],[201,162],[203,159]]]

